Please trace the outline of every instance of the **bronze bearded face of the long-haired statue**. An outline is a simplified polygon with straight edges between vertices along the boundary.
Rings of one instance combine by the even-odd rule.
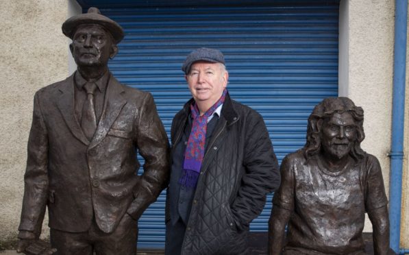
[[[356,142],[356,125],[349,112],[334,113],[323,122],[321,130],[324,153],[331,158],[348,156]]]

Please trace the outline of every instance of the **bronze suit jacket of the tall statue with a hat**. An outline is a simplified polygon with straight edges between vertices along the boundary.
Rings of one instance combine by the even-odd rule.
[[[19,230],[112,232],[125,213],[138,219],[166,186],[168,139],[153,97],[111,74],[97,131],[88,141],[74,113],[74,75],[38,90],[28,141]],[[144,173],[135,149],[145,158]]]

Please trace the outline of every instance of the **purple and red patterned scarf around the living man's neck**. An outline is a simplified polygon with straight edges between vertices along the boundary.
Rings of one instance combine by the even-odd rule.
[[[193,118],[192,130],[190,130],[188,145],[184,153],[182,177],[179,179],[179,184],[183,186],[194,188],[199,179],[201,162],[204,156],[204,146],[206,142],[206,130],[208,127],[208,118],[212,116],[221,104],[224,103],[227,90],[223,90],[221,98],[216,103],[200,116],[197,104],[193,102],[190,105],[190,112]]]

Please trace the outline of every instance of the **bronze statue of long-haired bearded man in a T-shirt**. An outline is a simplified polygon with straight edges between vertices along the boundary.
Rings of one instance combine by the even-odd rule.
[[[273,198],[269,254],[365,254],[365,213],[373,250],[387,254],[389,222],[382,171],[362,151],[364,112],[347,97],[327,98],[308,119],[306,145],[284,158]],[[288,222],[287,243],[284,229]]]

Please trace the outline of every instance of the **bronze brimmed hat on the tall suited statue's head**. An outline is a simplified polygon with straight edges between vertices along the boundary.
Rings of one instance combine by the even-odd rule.
[[[72,16],[71,18],[67,19],[62,24],[62,33],[72,39],[76,27],[79,25],[88,24],[101,25],[102,27],[106,28],[112,34],[116,44],[121,42],[123,39],[124,34],[122,27],[115,21],[112,21],[112,19],[109,19],[107,16],[103,16],[96,7],[89,8],[87,13]]]

